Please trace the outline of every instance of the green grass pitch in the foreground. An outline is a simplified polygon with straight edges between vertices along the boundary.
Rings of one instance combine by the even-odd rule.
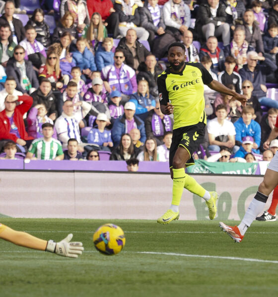
[[[70,259],[0,241],[0,297],[278,296],[277,222],[254,222],[240,244],[220,231],[217,221],[164,226],[148,220],[0,222],[46,240],[73,233],[85,248]],[[126,234],[126,247],[115,256],[99,253],[92,242],[93,232],[108,222]]]

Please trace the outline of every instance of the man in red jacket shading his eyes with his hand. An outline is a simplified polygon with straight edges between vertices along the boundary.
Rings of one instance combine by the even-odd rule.
[[[22,103],[17,105],[17,101]],[[4,145],[4,140],[12,140],[19,148],[27,148],[33,138],[25,131],[23,114],[32,106],[33,98],[28,95],[8,95],[4,103],[5,109],[0,112],[0,148]]]

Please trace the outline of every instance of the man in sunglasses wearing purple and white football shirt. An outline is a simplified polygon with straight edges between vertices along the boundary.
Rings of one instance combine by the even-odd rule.
[[[135,71],[124,64],[125,55],[122,49],[116,49],[114,64],[108,65],[101,70],[101,78],[106,82],[105,88],[111,93],[118,90],[122,93],[122,100],[127,102],[130,95],[137,92]]]

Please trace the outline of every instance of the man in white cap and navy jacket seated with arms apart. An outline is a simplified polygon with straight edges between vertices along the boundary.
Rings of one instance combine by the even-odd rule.
[[[134,102],[127,102],[124,107],[124,115],[114,122],[111,132],[113,143],[116,147],[120,143],[121,136],[124,133],[129,133],[134,128],[138,128],[140,130],[140,142],[145,142],[146,132],[144,122],[135,115],[135,110],[136,106]]]

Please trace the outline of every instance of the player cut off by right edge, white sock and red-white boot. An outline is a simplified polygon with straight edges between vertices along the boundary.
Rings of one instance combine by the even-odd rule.
[[[264,148],[268,149],[270,142],[278,137],[278,116],[276,124],[267,141],[264,143]],[[264,180],[260,184],[259,189],[250,205],[248,206],[245,215],[238,226],[228,226],[220,222],[219,227],[226,232],[236,243],[240,243],[244,237],[247,228],[256,219],[266,206],[267,199],[274,188],[278,185],[278,151],[270,161],[268,169],[265,173]]]

